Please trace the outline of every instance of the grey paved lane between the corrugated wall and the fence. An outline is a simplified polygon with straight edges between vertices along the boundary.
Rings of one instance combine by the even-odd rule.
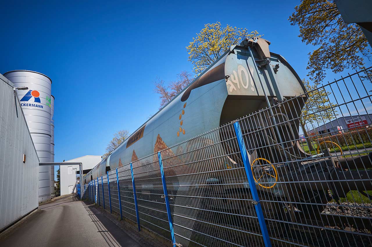
[[[39,206],[0,238],[1,247],[141,247],[101,212],[74,197]]]

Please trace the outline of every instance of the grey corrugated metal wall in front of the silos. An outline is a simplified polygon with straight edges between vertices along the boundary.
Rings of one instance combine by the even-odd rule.
[[[13,83],[0,74],[0,230],[38,207],[38,174],[39,159]]]

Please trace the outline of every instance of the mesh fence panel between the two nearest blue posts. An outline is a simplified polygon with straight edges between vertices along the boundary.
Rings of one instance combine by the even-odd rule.
[[[244,166],[241,162],[231,163],[231,157],[240,155],[231,124],[161,153],[176,243],[262,244],[253,200],[244,193],[249,190]]]

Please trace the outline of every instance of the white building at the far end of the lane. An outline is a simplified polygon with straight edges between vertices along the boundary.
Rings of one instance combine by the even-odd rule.
[[[100,155],[84,155],[64,162],[81,162],[83,164],[83,174],[86,174],[100,163],[101,160],[102,156]],[[80,177],[79,166],[60,166],[60,169],[61,196],[71,194],[76,183],[76,177]]]

